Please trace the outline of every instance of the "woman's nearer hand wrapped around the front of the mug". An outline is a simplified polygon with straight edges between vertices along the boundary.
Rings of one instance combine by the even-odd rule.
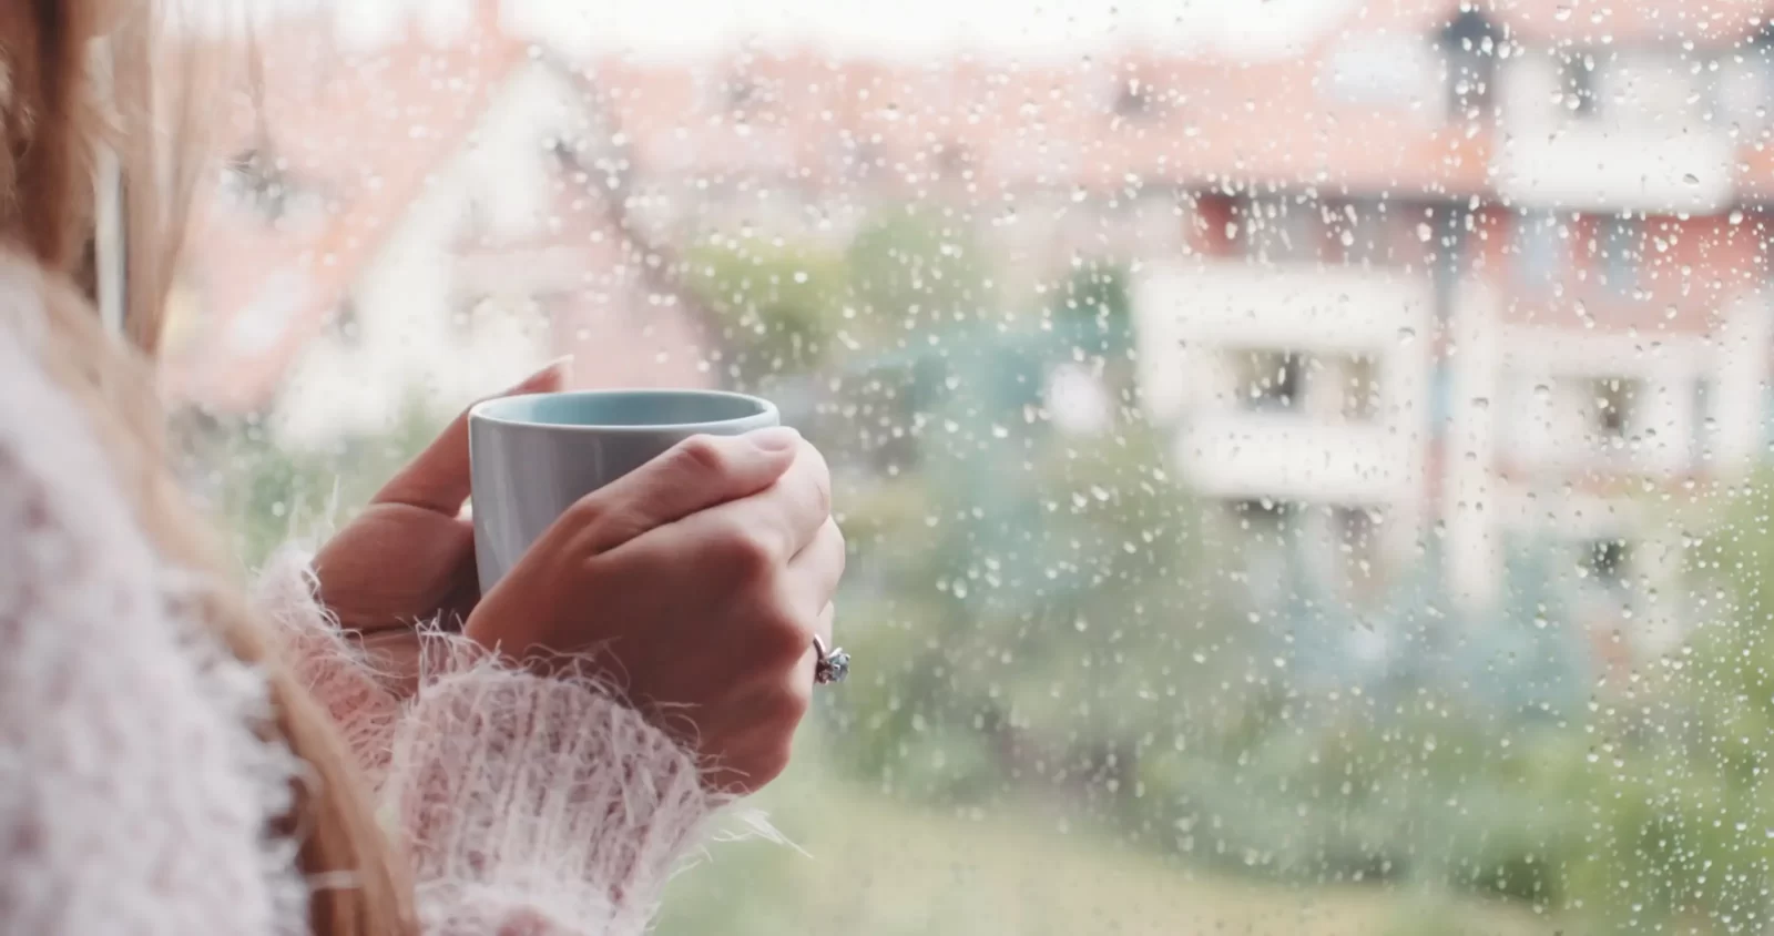
[[[843,569],[811,445],[791,429],[697,436],[575,503],[467,633],[541,667],[594,654],[711,785],[750,792],[788,764]]]

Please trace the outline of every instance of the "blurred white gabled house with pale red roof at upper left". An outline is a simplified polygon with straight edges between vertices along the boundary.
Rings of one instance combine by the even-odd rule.
[[[559,355],[585,386],[713,379],[701,323],[642,285],[612,220],[591,90],[479,9],[374,44],[323,20],[264,41],[190,250],[179,401],[326,445]]]

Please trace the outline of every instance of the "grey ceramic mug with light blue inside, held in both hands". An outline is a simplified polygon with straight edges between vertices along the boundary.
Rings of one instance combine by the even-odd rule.
[[[486,592],[578,498],[690,436],[777,425],[773,402],[717,390],[584,390],[468,411],[474,557]]]

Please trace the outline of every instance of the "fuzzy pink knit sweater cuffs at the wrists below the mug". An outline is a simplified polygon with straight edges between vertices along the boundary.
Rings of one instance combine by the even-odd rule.
[[[300,560],[261,596],[406,835],[428,936],[628,936],[718,805],[690,752],[593,677],[424,636],[401,700],[314,601]]]

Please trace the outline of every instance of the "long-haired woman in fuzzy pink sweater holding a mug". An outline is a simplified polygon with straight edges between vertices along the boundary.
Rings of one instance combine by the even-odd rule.
[[[0,4],[0,932],[639,932],[807,707],[843,569],[821,459],[789,431],[687,443],[475,596],[458,420],[239,596],[144,365],[160,195],[192,176],[145,129],[184,66],[142,90],[137,7]],[[112,121],[131,346],[90,303],[99,37],[137,94]]]

